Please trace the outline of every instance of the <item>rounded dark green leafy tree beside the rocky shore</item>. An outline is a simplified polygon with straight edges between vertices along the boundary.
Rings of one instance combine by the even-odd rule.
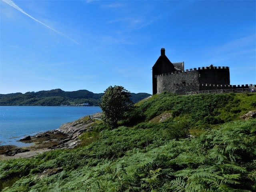
[[[99,104],[102,109],[102,120],[108,126],[115,128],[117,122],[124,118],[126,112],[131,108],[130,92],[122,86],[109,86],[102,96]]]

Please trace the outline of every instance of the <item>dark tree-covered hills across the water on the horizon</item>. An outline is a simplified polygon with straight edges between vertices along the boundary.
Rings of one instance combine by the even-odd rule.
[[[89,103],[97,106],[104,93],[93,93],[88,90],[63,91],[53,89],[49,91],[0,94],[0,105],[11,106],[59,106]],[[136,103],[148,96],[148,93],[130,93],[132,102]]]

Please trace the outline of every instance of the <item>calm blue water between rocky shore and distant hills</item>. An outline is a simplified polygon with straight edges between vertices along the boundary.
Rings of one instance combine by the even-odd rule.
[[[0,145],[26,146],[17,140],[96,112],[101,112],[100,107],[0,106]]]

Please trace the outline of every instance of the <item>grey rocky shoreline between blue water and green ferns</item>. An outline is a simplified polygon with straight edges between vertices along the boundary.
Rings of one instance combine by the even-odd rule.
[[[18,142],[31,143],[29,146],[0,145],[0,160],[30,158],[54,149],[72,149],[79,142],[83,132],[92,131],[92,124],[101,118],[102,113],[83,116],[73,122],[62,124],[56,130],[40,132],[22,138]]]

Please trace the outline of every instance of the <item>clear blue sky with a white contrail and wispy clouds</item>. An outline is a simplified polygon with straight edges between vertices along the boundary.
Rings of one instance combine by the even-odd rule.
[[[112,85],[152,94],[165,48],[256,84],[256,1],[0,0],[0,94]]]

